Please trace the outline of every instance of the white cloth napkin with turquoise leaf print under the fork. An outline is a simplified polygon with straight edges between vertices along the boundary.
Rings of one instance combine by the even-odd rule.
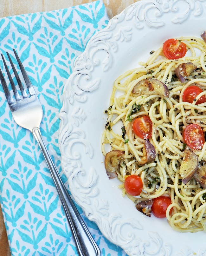
[[[9,69],[6,51],[17,64],[12,48],[23,62],[42,103],[43,139],[68,192],[58,147],[63,87],[72,73],[75,58],[84,51],[91,36],[107,23],[102,1],[0,19],[0,52]],[[1,58],[0,67],[5,75]],[[16,125],[1,85],[0,126],[0,202],[12,255],[78,255],[41,150],[33,135]],[[77,208],[102,256],[126,255],[100,233],[79,206]]]

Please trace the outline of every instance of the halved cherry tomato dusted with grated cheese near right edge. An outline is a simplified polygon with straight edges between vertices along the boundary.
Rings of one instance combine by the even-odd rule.
[[[205,142],[203,129],[197,124],[189,124],[183,131],[183,139],[190,148],[201,149]]]

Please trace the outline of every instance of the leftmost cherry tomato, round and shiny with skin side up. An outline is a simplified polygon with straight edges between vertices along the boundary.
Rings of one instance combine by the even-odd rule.
[[[142,179],[137,175],[130,175],[125,180],[125,190],[128,194],[137,196],[142,192]]]

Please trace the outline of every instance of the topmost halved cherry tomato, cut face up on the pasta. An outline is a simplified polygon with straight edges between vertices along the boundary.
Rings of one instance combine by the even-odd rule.
[[[180,40],[171,38],[164,42],[163,52],[169,60],[179,59],[185,56],[187,52],[186,44]]]

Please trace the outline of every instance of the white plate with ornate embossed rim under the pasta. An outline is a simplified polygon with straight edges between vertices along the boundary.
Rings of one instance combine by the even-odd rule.
[[[103,235],[135,255],[206,255],[205,232],[178,233],[166,219],[138,212],[109,180],[100,140],[115,79],[168,38],[206,30],[205,1],[138,1],[97,32],[64,87],[59,134],[62,169],[74,200]]]

